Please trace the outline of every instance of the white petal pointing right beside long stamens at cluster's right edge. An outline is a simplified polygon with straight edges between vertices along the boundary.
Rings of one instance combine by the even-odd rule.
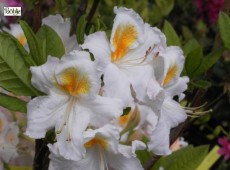
[[[187,114],[179,103],[167,97],[162,105],[161,117],[167,126],[173,128],[184,122],[187,118]]]

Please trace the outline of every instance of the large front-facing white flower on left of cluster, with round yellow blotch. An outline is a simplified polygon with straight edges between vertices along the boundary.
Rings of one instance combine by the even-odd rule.
[[[100,75],[87,52],[72,51],[61,60],[49,57],[31,72],[32,84],[47,95],[29,102],[26,134],[43,138],[54,127],[60,154],[81,159],[87,126],[99,127],[120,116],[123,104],[98,95]]]

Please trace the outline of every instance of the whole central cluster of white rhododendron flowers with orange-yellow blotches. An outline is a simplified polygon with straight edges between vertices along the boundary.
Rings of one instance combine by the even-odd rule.
[[[39,139],[55,129],[50,170],[143,169],[135,151],[170,154],[170,129],[187,117],[173,100],[184,98],[189,81],[180,77],[182,50],[167,47],[164,34],[132,9],[114,12],[110,40],[96,32],[77,48],[60,33],[69,33],[69,22],[45,19],[59,18],[53,27],[69,49],[31,67],[33,86],[46,95],[29,102],[26,134]]]

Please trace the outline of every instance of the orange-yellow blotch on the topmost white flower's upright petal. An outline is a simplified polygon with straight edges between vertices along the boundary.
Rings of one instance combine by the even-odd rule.
[[[123,58],[129,50],[129,47],[137,40],[138,32],[134,25],[119,25],[113,38],[113,46],[115,51],[112,52],[112,62]]]

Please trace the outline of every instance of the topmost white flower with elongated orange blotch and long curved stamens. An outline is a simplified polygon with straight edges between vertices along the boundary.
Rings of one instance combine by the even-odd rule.
[[[146,87],[154,77],[150,63],[157,56],[155,47],[166,43],[164,35],[145,24],[132,9],[115,7],[114,12],[110,42],[105,32],[96,32],[87,36],[81,47],[93,53],[104,74],[104,94],[121,98],[129,105],[130,84],[139,100],[146,96]]]

